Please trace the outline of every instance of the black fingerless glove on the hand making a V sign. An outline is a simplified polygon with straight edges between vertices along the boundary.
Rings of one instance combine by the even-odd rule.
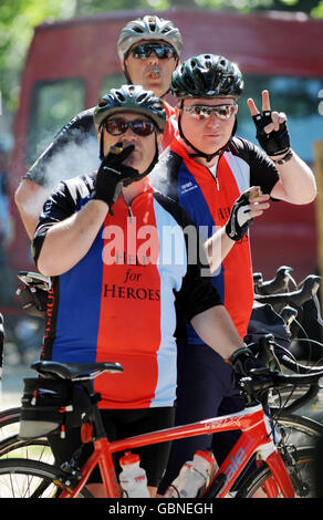
[[[278,131],[272,131],[267,134],[263,128],[272,123],[271,111],[257,114],[252,119],[257,128],[256,137],[259,141],[260,146],[269,156],[282,155],[289,152],[291,143],[285,123],[281,123]]]

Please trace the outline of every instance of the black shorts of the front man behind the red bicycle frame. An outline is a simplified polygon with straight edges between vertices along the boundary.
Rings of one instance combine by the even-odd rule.
[[[102,409],[101,415],[108,440],[118,440],[158,429],[170,428],[175,420],[175,409],[173,407]],[[49,443],[55,457],[55,466],[60,467],[63,462],[71,460],[74,451],[81,446],[80,433],[80,428],[70,428],[66,430],[65,439],[61,439],[56,434],[49,435]],[[167,466],[170,444],[169,441],[154,444],[133,450],[140,457],[140,466],[146,470],[148,486],[158,487]],[[81,467],[92,453],[92,443],[83,446],[79,462]],[[117,475],[121,472],[118,459],[123,455],[123,453],[113,455]],[[98,467],[96,467],[88,482],[101,481],[101,474]]]

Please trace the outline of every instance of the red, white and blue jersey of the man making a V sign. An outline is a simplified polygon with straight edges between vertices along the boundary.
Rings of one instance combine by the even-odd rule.
[[[270,194],[279,174],[252,143],[233,137],[218,167],[211,171],[189,157],[178,139],[159,158],[150,174],[153,185],[178,201],[201,232],[204,240],[228,221],[236,199],[250,186]],[[222,302],[239,334],[244,337],[253,303],[253,281],[248,235],[237,242],[212,277]],[[201,340],[187,327],[189,343]]]

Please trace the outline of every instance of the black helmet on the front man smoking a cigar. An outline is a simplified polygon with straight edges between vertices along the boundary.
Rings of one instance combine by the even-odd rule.
[[[107,117],[118,112],[135,112],[152,119],[157,132],[163,133],[167,115],[164,103],[153,91],[146,91],[140,85],[122,85],[112,89],[104,95],[94,110],[94,123],[100,129]]]

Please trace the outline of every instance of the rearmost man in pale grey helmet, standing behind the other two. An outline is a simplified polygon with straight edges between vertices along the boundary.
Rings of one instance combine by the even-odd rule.
[[[121,31],[117,52],[128,83],[153,90],[158,97],[169,91],[170,75],[178,64],[183,40],[169,20],[145,15],[129,21]],[[165,149],[175,132],[174,108],[164,101],[167,125],[160,148]],[[42,205],[61,179],[97,168],[97,139],[93,110],[75,115],[31,166],[17,191],[15,204],[32,238]]]

